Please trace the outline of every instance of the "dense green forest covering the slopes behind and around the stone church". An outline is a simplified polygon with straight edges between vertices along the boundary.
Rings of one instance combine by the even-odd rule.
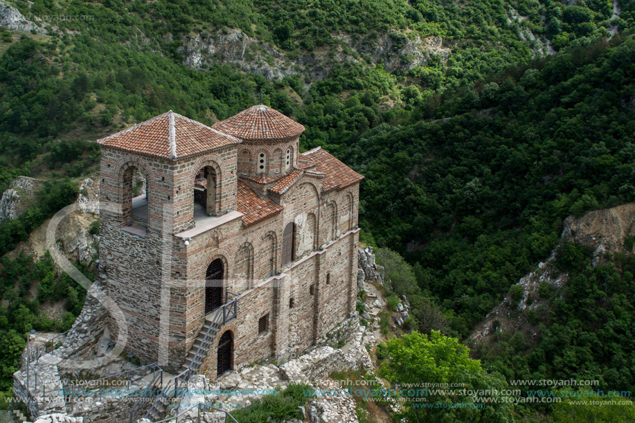
[[[48,185],[37,206],[0,223],[2,255],[73,201],[78,179],[96,172],[96,138],[168,109],[211,124],[265,103],[307,127],[303,149],[322,145],[364,174],[361,240],[382,247],[387,288],[408,296],[409,325],[424,334],[465,339],[548,257],[565,217],[635,199],[634,1],[618,14],[597,0],[12,4],[42,30],[0,28],[0,188],[18,175]],[[227,28],[263,43],[255,61],[282,57],[293,71],[268,79],[231,60],[184,65],[185,44]],[[399,55],[427,37],[447,54],[431,49],[417,66]],[[368,47],[386,40],[393,71]],[[539,339],[501,333],[472,356],[495,377],[632,390],[635,258],[590,268],[589,252],[571,249],[559,264],[569,286],[544,291],[551,312],[533,316]],[[50,258],[5,256],[0,279],[8,390],[26,332],[68,328],[85,292]],[[61,321],[39,311],[55,300]]]

